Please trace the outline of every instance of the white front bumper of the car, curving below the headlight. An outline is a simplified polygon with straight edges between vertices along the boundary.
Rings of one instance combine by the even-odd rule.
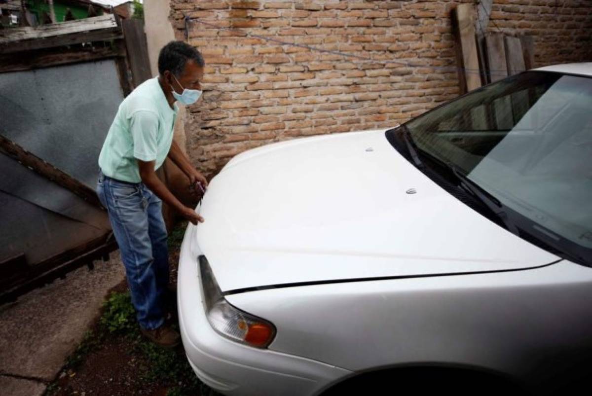
[[[205,316],[197,244],[189,224],[181,247],[178,309],[189,363],[202,382],[227,395],[314,395],[350,371],[298,356],[257,349],[218,334]],[[190,243],[191,242],[191,243]]]

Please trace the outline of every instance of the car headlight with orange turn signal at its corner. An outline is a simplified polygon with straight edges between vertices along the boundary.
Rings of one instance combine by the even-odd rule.
[[[220,291],[205,256],[200,256],[199,262],[205,315],[212,328],[233,341],[258,348],[267,347],[275,337],[275,326],[230,305]]]

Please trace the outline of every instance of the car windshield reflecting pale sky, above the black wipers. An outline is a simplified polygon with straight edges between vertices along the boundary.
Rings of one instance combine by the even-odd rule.
[[[592,265],[592,78],[521,73],[404,127],[411,150],[489,197],[509,230]]]

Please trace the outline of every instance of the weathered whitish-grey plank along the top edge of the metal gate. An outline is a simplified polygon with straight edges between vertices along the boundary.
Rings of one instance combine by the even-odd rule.
[[[0,30],[0,54],[121,38],[112,14],[58,24]]]

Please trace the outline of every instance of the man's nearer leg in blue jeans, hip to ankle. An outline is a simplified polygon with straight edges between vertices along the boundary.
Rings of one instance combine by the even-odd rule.
[[[164,323],[158,295],[157,274],[149,236],[147,198],[139,186],[105,179],[103,194],[126,268],[131,301],[140,326],[157,329]]]

